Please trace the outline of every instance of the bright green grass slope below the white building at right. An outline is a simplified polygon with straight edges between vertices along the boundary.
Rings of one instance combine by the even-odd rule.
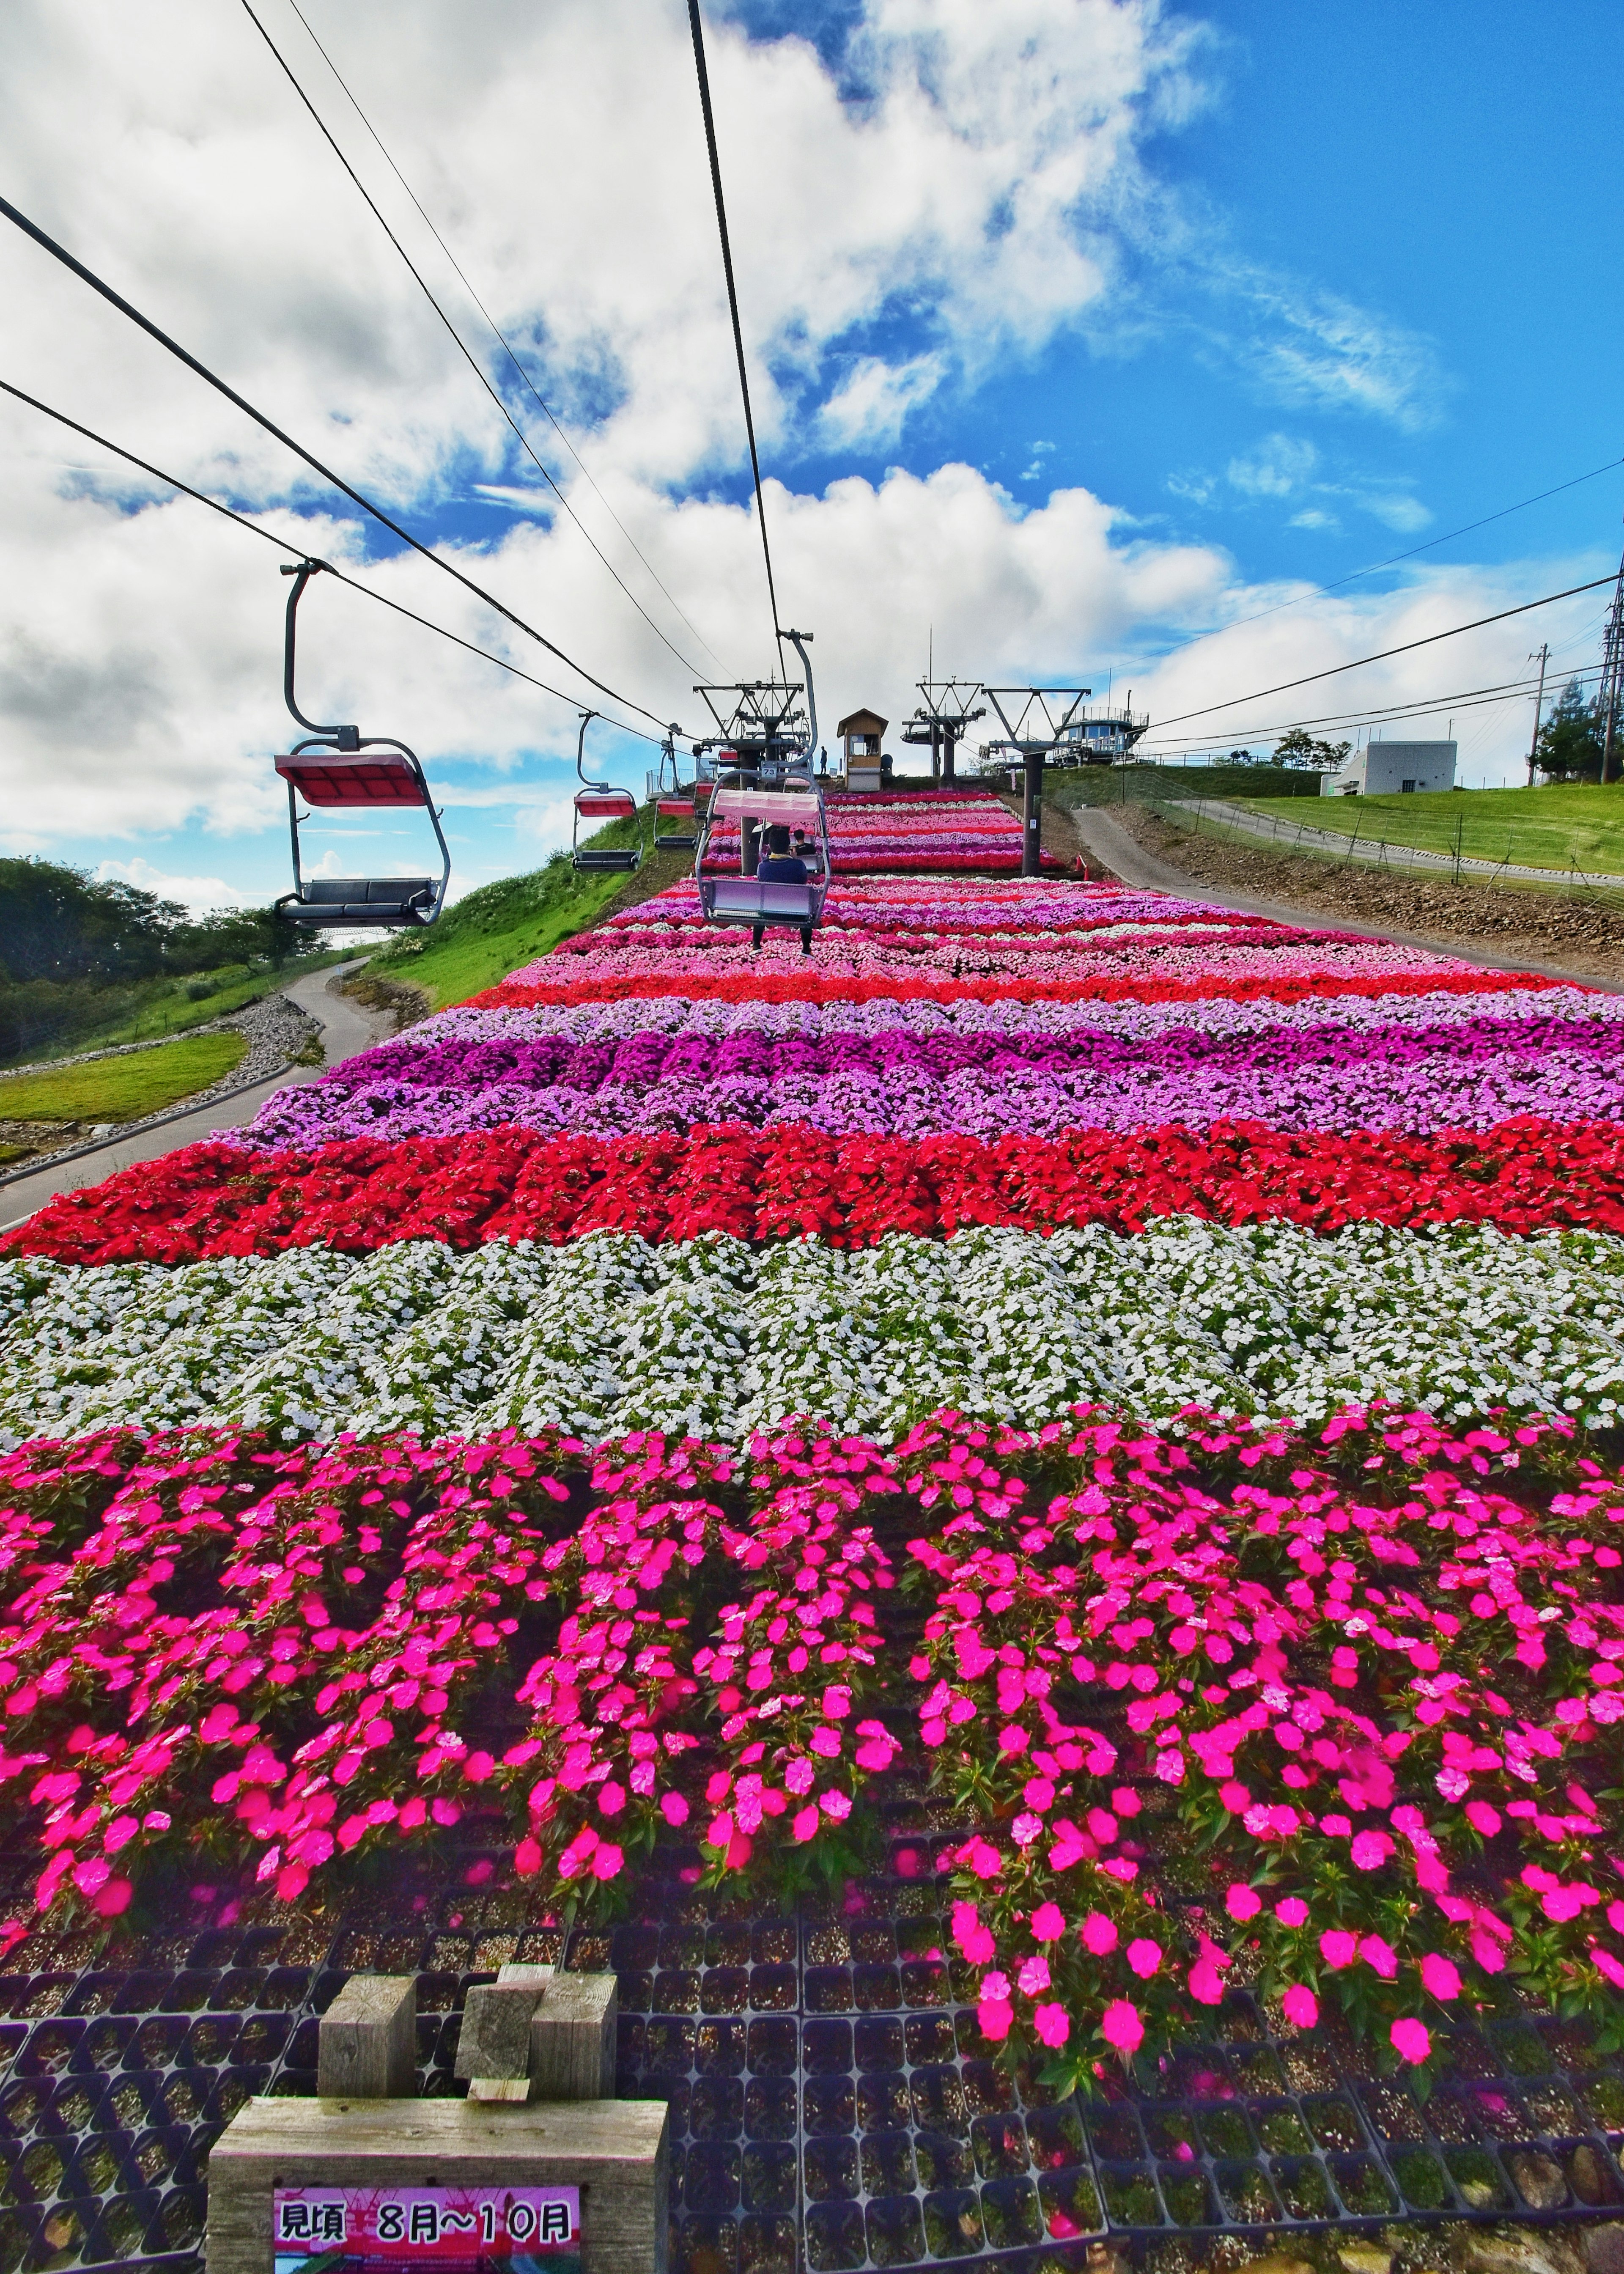
[[[1217,791],[1215,791],[1217,796]],[[1256,814],[1308,821],[1312,828],[1358,830],[1360,844],[1460,850],[1472,860],[1565,871],[1569,860],[1601,875],[1624,875],[1624,789],[1592,782],[1549,789],[1437,789],[1385,798],[1319,798],[1312,812],[1285,798],[1237,798]]]

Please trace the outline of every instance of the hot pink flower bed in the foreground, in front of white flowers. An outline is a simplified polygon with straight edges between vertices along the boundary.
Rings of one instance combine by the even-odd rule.
[[[908,1756],[976,1826],[898,1856],[953,1878],[939,1962],[1058,2083],[1242,1951],[1287,2022],[1331,1997],[1419,2063],[1508,1969],[1617,2015],[1622,1503],[1563,1424],[1426,1414],[36,1444],[0,1821],[64,1917],[198,1867],[296,1899],[464,1815],[555,1906],[671,1837],[792,1892],[878,1849]]]

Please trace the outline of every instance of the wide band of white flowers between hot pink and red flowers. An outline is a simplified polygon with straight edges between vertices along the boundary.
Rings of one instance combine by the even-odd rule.
[[[560,1424],[737,1439],[789,1412],[889,1437],[939,1405],[1039,1426],[1080,1401],[1315,1421],[1397,1399],[1606,1424],[1624,1239],[1333,1239],[1171,1217],[1137,1237],[967,1230],[842,1251],[600,1233],[73,1269],[0,1262],[0,1442],[125,1424],[287,1437]]]

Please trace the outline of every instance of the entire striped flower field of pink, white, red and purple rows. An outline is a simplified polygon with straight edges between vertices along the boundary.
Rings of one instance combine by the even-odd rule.
[[[837,807],[810,955],[676,887],[0,1244],[11,1942],[889,1887],[1026,2106],[1237,1997],[1422,2090],[1624,2044],[1619,998],[978,803]]]

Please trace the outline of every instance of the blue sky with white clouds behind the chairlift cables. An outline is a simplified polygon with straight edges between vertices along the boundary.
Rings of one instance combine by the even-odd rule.
[[[180,0],[150,36],[111,0],[84,14],[20,9],[0,96],[18,202],[571,655],[691,725],[696,673],[537,491],[252,32],[200,27]],[[494,0],[475,34],[430,7],[409,39],[382,0],[305,14],[689,623],[537,425],[582,523],[705,675],[762,671],[676,0],[544,25]],[[266,20],[507,391],[287,0]],[[1155,719],[1617,564],[1613,468],[1340,584],[1624,455],[1617,11],[748,0],[710,23],[782,612],[819,630],[826,739],[855,703],[905,712],[933,634],[939,666],[1099,689],[1112,673]],[[0,289],[18,384],[580,696],[32,248],[0,246]],[[34,414],[0,418],[18,596],[5,844],[193,903],[280,889],[271,548]],[[1594,664],[1604,607],[1592,594],[1169,741],[1267,746],[1296,716],[1433,698],[1410,732],[1442,732],[1458,691],[1519,678],[1542,637],[1556,684]],[[423,750],[462,887],[560,841],[571,700],[346,594],[312,594],[309,619],[307,707]],[[1458,719],[1467,778],[1515,778],[1528,723],[1522,696]],[[639,785],[651,748],[594,737]],[[405,846],[371,841],[382,866]]]

